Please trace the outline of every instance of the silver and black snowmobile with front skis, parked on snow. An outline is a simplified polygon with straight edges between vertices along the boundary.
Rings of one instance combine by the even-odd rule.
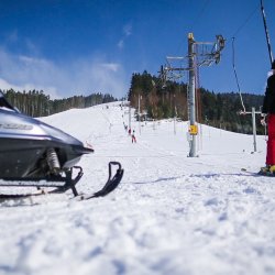
[[[42,195],[46,187],[51,187],[47,194],[70,189],[80,199],[105,196],[121,182],[123,169],[119,162],[109,163],[109,178],[101,190],[80,195],[76,189],[84,175],[76,164],[82,155],[92,152],[59,129],[21,113],[0,92],[0,187],[37,189],[29,194],[0,194],[0,198]],[[113,166],[118,167],[114,175]]]

